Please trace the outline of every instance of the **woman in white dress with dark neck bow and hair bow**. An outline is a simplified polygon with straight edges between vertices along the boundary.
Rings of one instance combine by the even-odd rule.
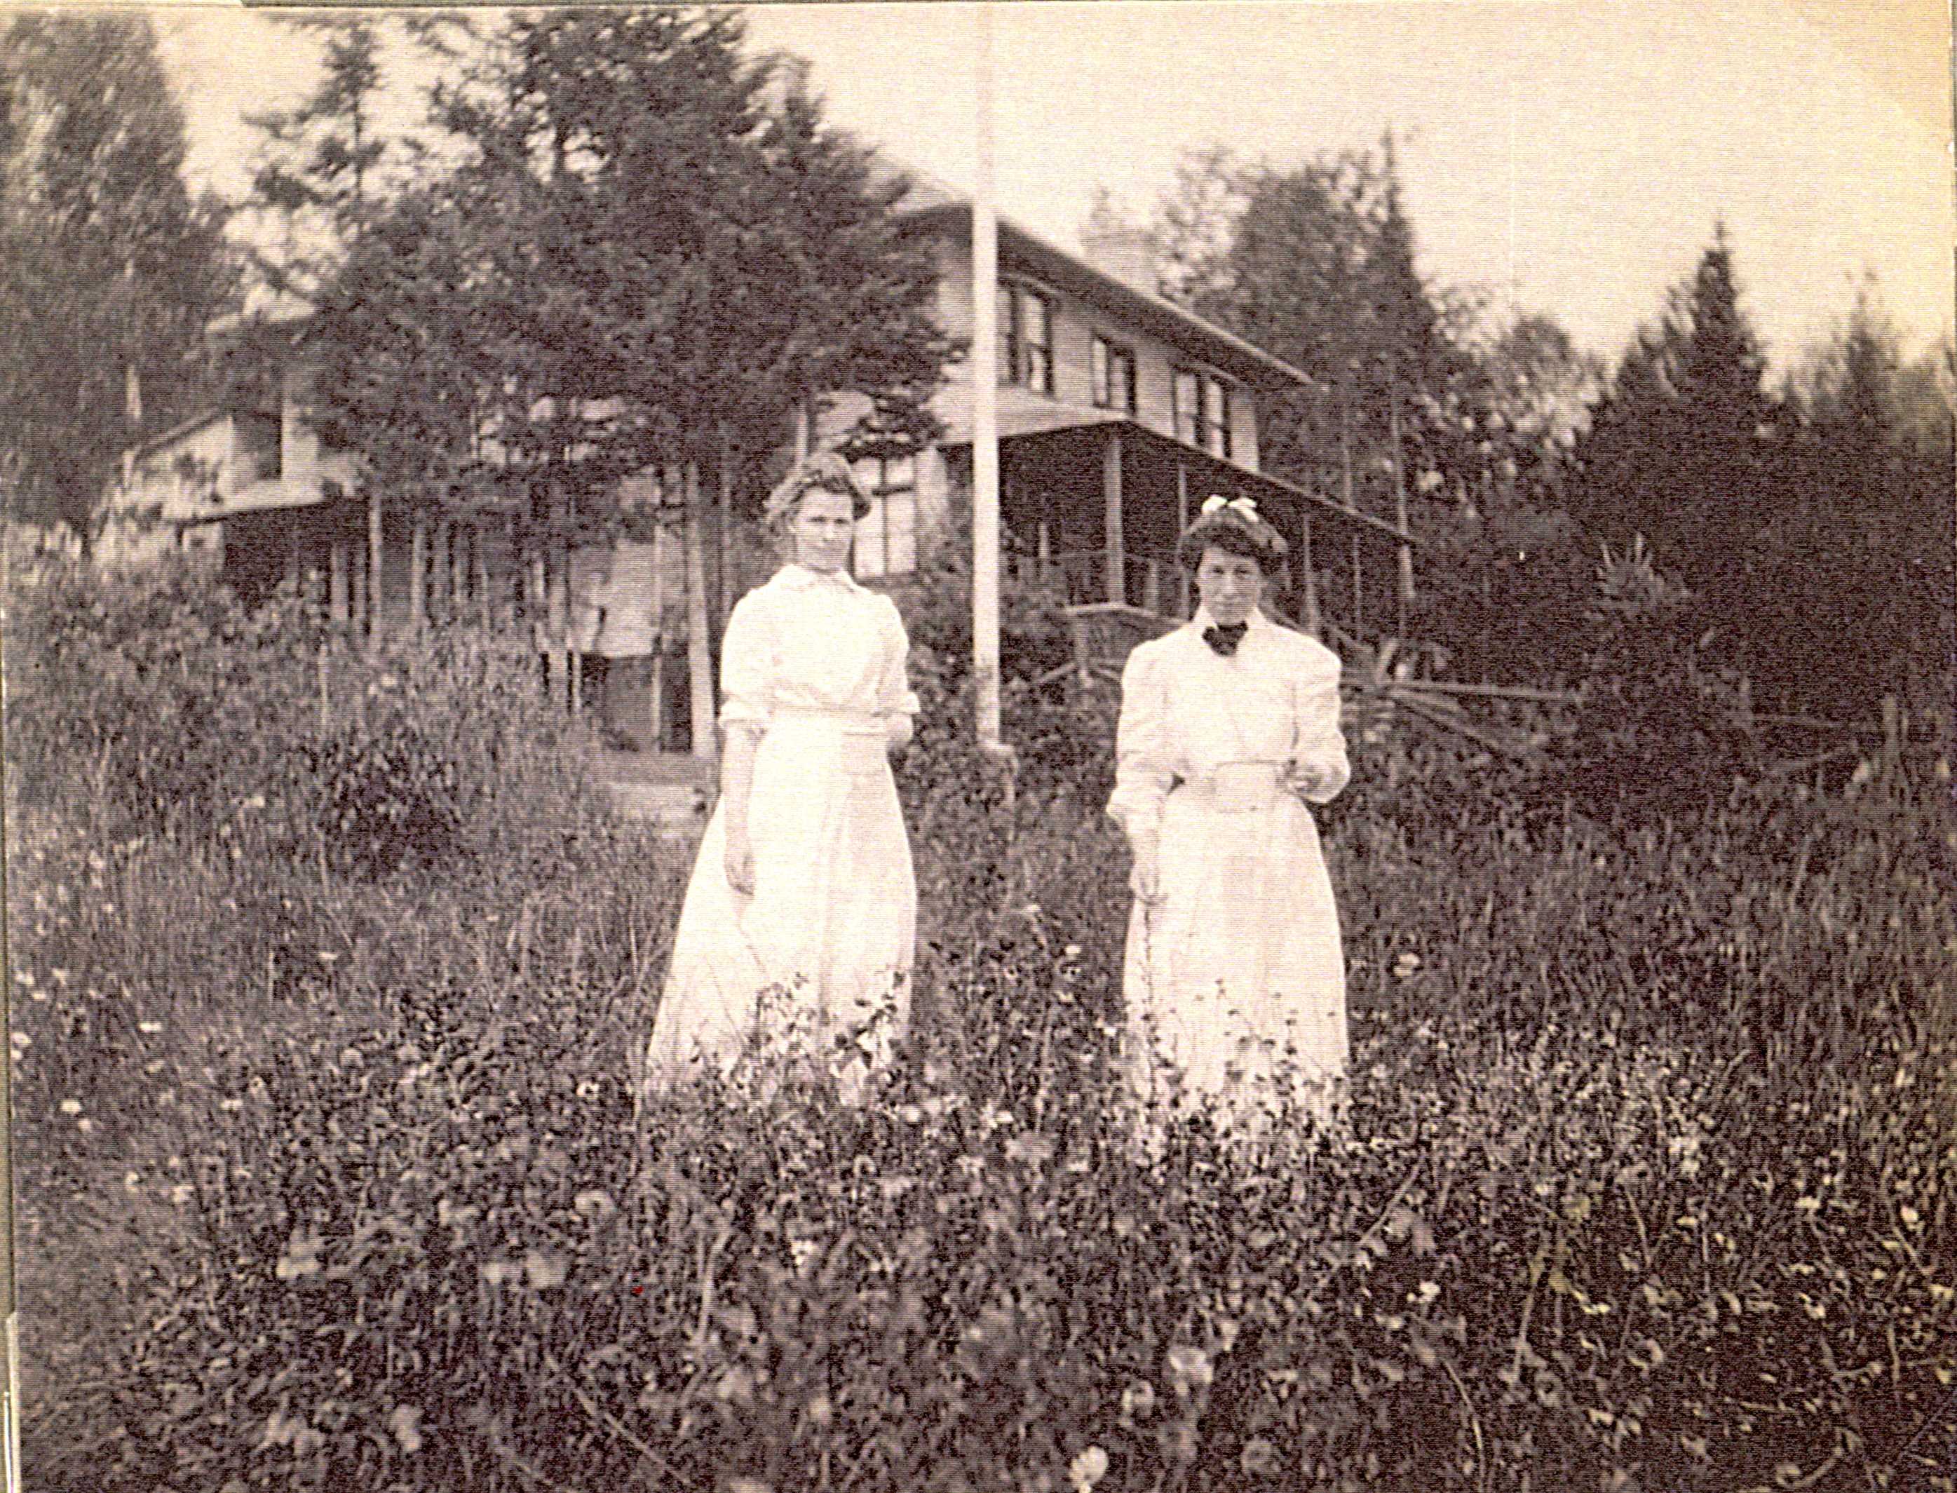
[[[1344,789],[1339,656],[1262,612],[1284,536],[1211,497],[1178,546],[1202,605],[1129,654],[1110,816],[1133,851],[1125,1063],[1145,1106],[1327,1121],[1346,1066],[1339,910],[1305,802]],[[1180,1078],[1178,1078],[1180,1076]]]

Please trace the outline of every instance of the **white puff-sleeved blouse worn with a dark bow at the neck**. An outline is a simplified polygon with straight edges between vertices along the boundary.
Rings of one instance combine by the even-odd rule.
[[[1339,732],[1339,656],[1251,612],[1229,657],[1204,642],[1207,612],[1139,644],[1121,671],[1115,789],[1108,814],[1129,837],[1155,836],[1178,783],[1225,761],[1288,761],[1319,775],[1323,804],[1352,777]]]

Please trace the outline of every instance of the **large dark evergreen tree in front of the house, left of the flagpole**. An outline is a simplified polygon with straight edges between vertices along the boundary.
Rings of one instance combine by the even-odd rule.
[[[753,509],[818,391],[859,395],[863,442],[930,434],[953,352],[933,262],[888,213],[904,184],[873,188],[869,155],[740,43],[726,12],[511,18],[436,94],[458,164],[370,225],[319,340],[325,419],[417,501],[497,485],[540,538],[616,522],[618,481],[658,474],[689,562],[697,749],[722,491]]]

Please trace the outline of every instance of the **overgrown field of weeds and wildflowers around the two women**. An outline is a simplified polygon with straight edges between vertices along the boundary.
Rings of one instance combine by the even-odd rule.
[[[1350,1133],[1143,1154],[1096,767],[926,693],[918,1051],[638,1115],[687,857],[519,648],[16,595],[27,1485],[1957,1487],[1945,757],[1613,826],[1354,740]]]

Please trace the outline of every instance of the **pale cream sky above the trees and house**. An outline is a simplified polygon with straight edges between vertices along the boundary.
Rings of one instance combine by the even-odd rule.
[[[763,4],[832,123],[969,188],[980,6]],[[245,112],[313,78],[262,14],[155,8],[190,170],[245,186]],[[1953,323],[1943,0],[1043,0],[992,4],[994,182],[1063,247],[1096,186],[1137,215],[1188,151],[1274,166],[1393,129],[1419,268],[1615,360],[1724,221],[1787,368],[1873,272],[1906,348]],[[399,117],[415,106],[403,82]]]

